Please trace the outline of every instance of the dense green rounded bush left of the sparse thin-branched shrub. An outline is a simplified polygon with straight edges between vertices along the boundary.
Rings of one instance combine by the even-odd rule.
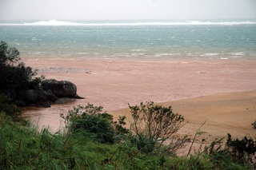
[[[118,122],[113,121],[113,116],[108,113],[102,113],[101,106],[91,104],[83,107],[78,105],[70,110],[66,117],[61,114],[65,120],[66,128],[72,134],[82,134],[90,136],[100,143],[114,143],[122,139],[121,136],[128,130],[123,128],[126,117],[119,117]]]

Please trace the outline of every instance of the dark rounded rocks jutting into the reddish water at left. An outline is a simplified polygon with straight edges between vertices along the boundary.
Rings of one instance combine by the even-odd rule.
[[[50,104],[63,104],[74,99],[82,99],[77,94],[77,87],[70,81],[49,79],[42,81],[40,89],[26,90],[24,101],[26,105],[50,107]]]

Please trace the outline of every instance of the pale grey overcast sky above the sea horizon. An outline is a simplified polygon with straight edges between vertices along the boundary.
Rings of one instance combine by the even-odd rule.
[[[0,20],[256,18],[256,0],[0,0]]]

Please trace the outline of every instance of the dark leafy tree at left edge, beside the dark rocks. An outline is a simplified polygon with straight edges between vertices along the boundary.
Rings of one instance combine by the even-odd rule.
[[[26,67],[19,57],[18,49],[9,47],[6,42],[0,42],[0,93],[5,93],[24,105],[22,99],[27,89],[38,89],[42,77],[34,77],[37,70]]]

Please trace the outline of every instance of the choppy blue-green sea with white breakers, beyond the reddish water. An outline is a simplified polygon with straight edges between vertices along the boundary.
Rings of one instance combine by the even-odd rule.
[[[21,57],[255,59],[256,21],[0,21]]]

